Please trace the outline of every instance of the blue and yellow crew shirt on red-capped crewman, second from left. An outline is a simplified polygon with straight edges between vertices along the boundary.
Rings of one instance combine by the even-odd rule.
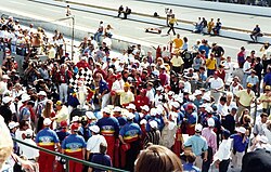
[[[68,135],[61,145],[65,153],[80,153],[86,146],[83,137],[78,134]]]

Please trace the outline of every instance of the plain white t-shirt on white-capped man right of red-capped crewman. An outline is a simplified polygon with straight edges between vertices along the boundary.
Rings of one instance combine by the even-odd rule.
[[[87,150],[90,153],[100,153],[100,144],[107,145],[106,140],[103,135],[92,135],[87,142]]]

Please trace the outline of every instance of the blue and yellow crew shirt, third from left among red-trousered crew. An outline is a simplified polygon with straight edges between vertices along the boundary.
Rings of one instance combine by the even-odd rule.
[[[102,135],[118,136],[119,123],[115,117],[104,117],[98,120],[96,125],[101,129]]]

